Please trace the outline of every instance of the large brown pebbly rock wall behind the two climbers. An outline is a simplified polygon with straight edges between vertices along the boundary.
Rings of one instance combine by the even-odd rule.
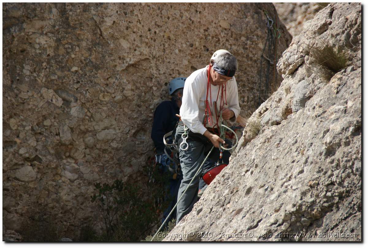
[[[167,83],[217,49],[237,57],[241,108],[255,107],[264,11],[275,20],[270,3],[4,3],[3,195],[16,202],[6,228],[40,206],[68,233],[95,221],[93,183],[144,179]],[[291,42],[279,27],[277,58]]]

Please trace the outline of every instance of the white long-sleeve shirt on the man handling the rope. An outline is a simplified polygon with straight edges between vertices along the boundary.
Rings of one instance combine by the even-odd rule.
[[[206,127],[202,124],[203,116],[205,114],[205,100],[207,93],[207,71],[208,65],[205,68],[199,69],[193,72],[187,80],[185,80],[184,90],[183,90],[183,99],[180,107],[180,116],[183,123],[192,131],[199,134],[204,134],[207,130],[206,127],[213,127],[216,125],[216,116],[213,106],[213,102],[216,101],[217,92],[219,92],[219,85],[211,84],[211,93],[208,92],[208,102],[211,104],[210,94],[212,95],[212,125],[210,123],[206,123]],[[236,84],[235,77],[230,79],[226,83],[226,96],[227,96],[227,105],[224,107],[233,110],[235,116],[231,118],[230,123],[235,123],[236,119],[240,113],[239,100],[238,100],[238,86]],[[220,96],[217,100],[217,108],[220,107],[221,101],[221,89]],[[219,114],[219,111],[217,111]],[[220,125],[221,123],[219,123]]]

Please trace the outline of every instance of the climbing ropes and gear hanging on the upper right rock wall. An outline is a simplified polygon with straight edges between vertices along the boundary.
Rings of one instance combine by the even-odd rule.
[[[258,106],[261,105],[261,100],[265,101],[268,92],[269,92],[269,85],[270,85],[270,67],[273,66],[273,84],[276,85],[277,83],[277,72],[276,72],[276,64],[277,64],[277,39],[280,38],[281,33],[279,29],[278,24],[278,16],[276,13],[276,26],[275,22],[272,20],[272,18],[269,17],[268,12],[266,10],[263,10],[263,13],[266,16],[266,25],[267,25],[267,40],[265,43],[265,46],[263,47],[262,55],[261,55],[261,64],[260,64],[260,70],[259,70],[259,97],[258,97]],[[278,32],[278,35],[277,35]],[[275,36],[275,37],[274,37]],[[275,39],[274,39],[275,38]],[[266,46],[268,45],[268,54],[265,55]],[[274,54],[272,53],[274,51]],[[275,60],[272,60],[272,58],[275,58]],[[262,91],[261,91],[261,85],[262,85],[262,73],[263,73],[263,60],[268,61],[266,66],[266,76],[265,76],[265,91],[262,98]]]

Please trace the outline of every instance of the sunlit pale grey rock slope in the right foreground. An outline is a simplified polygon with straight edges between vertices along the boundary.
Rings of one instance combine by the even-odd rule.
[[[252,137],[247,124],[229,166],[166,240],[361,241],[361,4],[330,4],[304,27],[278,63],[280,88],[252,114],[271,113],[268,122]],[[348,58],[329,81],[308,71],[302,49],[321,39]]]

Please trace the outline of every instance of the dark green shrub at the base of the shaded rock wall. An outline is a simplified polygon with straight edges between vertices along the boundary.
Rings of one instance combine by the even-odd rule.
[[[164,199],[169,189],[168,174],[157,169],[144,185],[123,183],[95,183],[91,196],[103,219],[103,234],[98,241],[140,241],[161,223],[162,212],[171,199]],[[157,230],[157,229],[156,229]]]

